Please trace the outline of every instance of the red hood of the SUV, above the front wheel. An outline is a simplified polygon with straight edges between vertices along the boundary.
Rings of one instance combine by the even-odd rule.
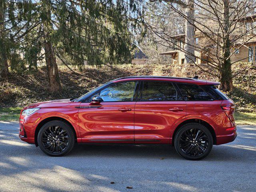
[[[44,107],[62,107],[62,106],[67,106],[70,103],[72,103],[72,101],[70,101],[70,99],[51,100],[51,101],[44,101],[44,102],[38,102],[38,103],[31,104],[30,106],[27,106],[24,109],[44,108]]]

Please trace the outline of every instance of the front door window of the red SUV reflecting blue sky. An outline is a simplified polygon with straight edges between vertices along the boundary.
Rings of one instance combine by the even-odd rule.
[[[101,90],[90,98],[100,96],[103,101],[132,101],[136,82],[123,82],[113,84]],[[89,102],[90,102],[89,101]]]

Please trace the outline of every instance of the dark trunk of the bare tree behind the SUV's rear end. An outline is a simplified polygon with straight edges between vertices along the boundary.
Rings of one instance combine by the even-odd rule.
[[[223,0],[222,3],[222,22],[223,22],[223,38],[222,38],[222,59],[220,63],[220,89],[230,91],[233,88],[232,69],[230,60],[230,39],[229,39],[229,0]]]

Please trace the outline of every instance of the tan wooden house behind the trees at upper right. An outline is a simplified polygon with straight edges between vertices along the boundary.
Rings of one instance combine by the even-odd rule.
[[[234,48],[230,50],[234,52],[230,57],[231,61],[241,62],[255,62],[256,61],[256,15],[240,18],[238,31],[240,34],[246,34],[242,38],[238,39],[234,44]],[[178,49],[170,50],[168,52],[160,53],[161,55],[170,55],[172,57],[172,64],[183,64],[185,62],[185,53],[180,49],[184,48],[185,34],[172,36],[172,39],[176,40],[176,47]],[[201,32],[196,31],[194,36],[195,46],[200,46],[201,42],[205,41],[204,35]],[[211,59],[204,55],[200,49],[195,49],[195,55],[197,64],[204,64]],[[201,59],[199,59],[201,58]]]

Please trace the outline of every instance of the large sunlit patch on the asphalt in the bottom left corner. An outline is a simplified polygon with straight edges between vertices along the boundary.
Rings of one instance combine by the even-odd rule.
[[[15,160],[18,161],[18,159]],[[79,171],[55,165],[46,169],[27,170],[22,173],[12,174],[8,177],[2,176],[0,183],[3,184],[1,186],[2,190],[8,189],[8,180],[10,180],[11,177],[14,181],[14,186],[17,186],[13,188],[13,190],[31,186],[34,189],[36,188],[37,191],[66,191],[67,186],[69,186],[68,188],[84,191],[86,189],[82,188],[82,186],[88,186],[88,188],[86,187],[88,191],[90,191],[89,188],[94,188],[96,191],[118,191],[104,186],[106,182],[102,180],[109,180],[108,178],[96,174],[88,174],[88,176],[89,179],[86,178],[86,175],[81,175]],[[95,178],[95,180],[93,178]],[[15,182],[20,183],[21,186],[15,184]],[[109,184],[108,181],[107,183]],[[18,188],[18,186],[20,186],[20,188]],[[45,186],[47,186],[47,188],[45,188]]]

